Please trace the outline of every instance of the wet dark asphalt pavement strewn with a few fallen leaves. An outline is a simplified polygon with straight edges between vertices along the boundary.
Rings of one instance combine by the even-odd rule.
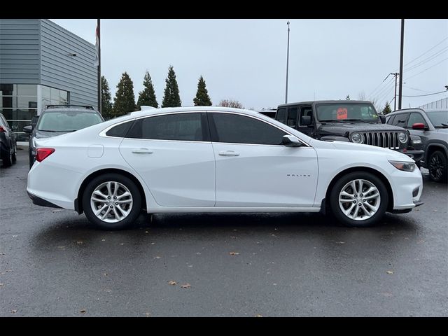
[[[107,232],[32,204],[27,172],[26,151],[0,169],[0,316],[448,315],[447,185],[425,179],[423,206],[374,228],[142,214]]]

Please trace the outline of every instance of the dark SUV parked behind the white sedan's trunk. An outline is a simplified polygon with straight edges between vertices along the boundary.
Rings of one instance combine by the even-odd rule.
[[[32,121],[31,125],[23,127],[24,132],[31,134],[29,137],[29,169],[33,167],[36,160],[36,139],[75,132],[102,123],[104,119],[92,106],[48,105],[38,116],[34,127]]]

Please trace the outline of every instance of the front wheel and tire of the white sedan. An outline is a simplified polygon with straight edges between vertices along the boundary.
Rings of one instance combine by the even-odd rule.
[[[361,185],[360,182],[362,182]],[[353,183],[356,190],[353,190]],[[364,193],[359,193],[360,188],[364,193],[369,189],[372,190],[371,188],[374,189],[364,195]],[[345,192],[344,195],[342,192]],[[347,200],[347,202],[339,202],[339,198]],[[365,228],[378,223],[384,216],[387,205],[386,186],[381,179],[368,172],[352,172],[342,176],[330,192],[332,214],[337,221],[349,227]],[[342,211],[341,207],[347,214]],[[358,211],[356,211],[357,208]]]

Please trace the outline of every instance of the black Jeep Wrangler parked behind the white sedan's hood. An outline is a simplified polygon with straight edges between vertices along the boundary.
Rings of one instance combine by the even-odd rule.
[[[385,124],[371,102],[322,100],[282,104],[275,119],[319,140],[351,141],[400,151],[419,165],[423,150],[419,137],[402,127]],[[414,142],[415,141],[415,144]]]

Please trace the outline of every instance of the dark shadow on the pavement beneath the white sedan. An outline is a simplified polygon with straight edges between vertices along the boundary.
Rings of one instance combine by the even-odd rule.
[[[38,251],[66,250],[98,246],[104,241],[117,245],[148,246],[170,239],[213,240],[216,237],[288,237],[334,243],[356,239],[393,240],[417,235],[419,225],[411,217],[386,214],[372,228],[346,228],[321,214],[141,214],[132,228],[119,231],[98,230],[85,216],[44,224],[31,238],[31,248]],[[151,239],[148,239],[151,237]]]

